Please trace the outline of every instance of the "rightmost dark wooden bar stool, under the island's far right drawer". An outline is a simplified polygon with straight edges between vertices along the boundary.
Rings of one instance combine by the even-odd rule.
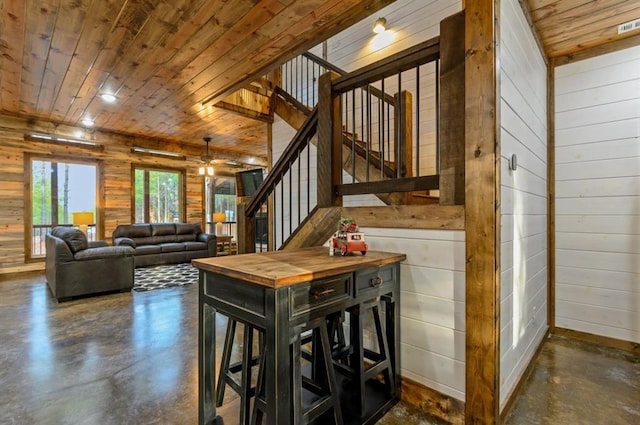
[[[356,386],[357,397],[355,401],[355,409],[359,412],[360,417],[366,412],[365,391],[367,381],[376,378],[382,374],[384,380],[384,388],[388,396],[393,397],[396,394],[395,373],[393,370],[393,358],[389,351],[389,341],[387,334],[382,328],[380,320],[380,309],[382,303],[387,307],[386,314],[391,313],[392,300],[390,297],[381,296],[375,299],[360,303],[349,308],[349,340],[352,346],[352,354],[349,359],[349,366],[336,365],[341,372],[346,372],[352,379],[352,383]],[[364,316],[371,311],[375,326],[375,339],[378,351],[364,348]],[[387,322],[388,323],[388,322]],[[389,326],[389,325],[387,325]]]

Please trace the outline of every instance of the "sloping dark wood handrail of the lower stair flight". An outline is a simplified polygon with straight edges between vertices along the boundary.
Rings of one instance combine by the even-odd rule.
[[[249,201],[245,210],[245,216],[251,217],[258,212],[260,206],[267,201],[276,185],[282,180],[288,167],[295,161],[300,152],[307,146],[307,141],[313,137],[318,127],[318,107],[313,108],[305,122],[296,133],[296,136],[289,142],[282,156],[275,163],[267,178],[258,187],[258,190]]]

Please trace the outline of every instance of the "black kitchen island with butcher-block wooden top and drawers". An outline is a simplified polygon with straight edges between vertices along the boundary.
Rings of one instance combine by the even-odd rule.
[[[405,258],[405,254],[378,251],[329,256],[327,247],[315,247],[194,260],[193,265],[200,270],[199,423],[215,424],[217,418],[214,400],[216,313],[263,333],[264,413],[268,424],[286,425],[298,424],[303,417],[301,380],[296,376],[301,370],[301,330],[319,318],[345,311],[357,315],[365,305],[382,303],[384,326],[378,328],[384,332],[384,345],[388,342],[391,367],[387,372],[391,379],[387,377],[387,380],[392,388],[378,391],[375,386],[369,389],[371,386],[349,386],[344,382],[339,385],[339,388],[350,388],[340,395],[341,402],[348,404],[342,409],[344,423],[374,423],[397,401],[397,303],[400,262]],[[362,364],[366,352],[362,327],[359,331],[350,331],[349,335],[352,355],[360,358],[354,363]],[[341,374],[336,372],[336,375]],[[359,407],[356,414],[350,408],[354,405]]]

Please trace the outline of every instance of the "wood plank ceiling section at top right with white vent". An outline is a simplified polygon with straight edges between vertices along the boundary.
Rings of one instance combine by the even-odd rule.
[[[640,35],[640,28],[618,33],[618,25],[640,19],[638,0],[527,0],[527,4],[543,49],[551,58]]]

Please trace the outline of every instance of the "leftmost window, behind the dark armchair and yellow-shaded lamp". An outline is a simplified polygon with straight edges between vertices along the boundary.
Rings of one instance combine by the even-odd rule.
[[[97,165],[68,160],[33,158],[29,178],[31,214],[28,258],[45,255],[45,235],[56,226],[73,226],[73,213],[91,213],[86,228],[89,240],[96,239]],[[27,232],[29,233],[29,232]]]

